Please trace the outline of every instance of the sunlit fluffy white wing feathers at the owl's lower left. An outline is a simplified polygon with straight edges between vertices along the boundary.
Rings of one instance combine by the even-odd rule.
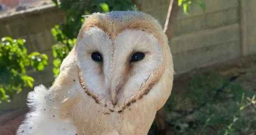
[[[17,135],[76,135],[72,120],[58,115],[46,98],[49,95],[50,91],[43,85],[28,94],[30,112],[19,126]]]

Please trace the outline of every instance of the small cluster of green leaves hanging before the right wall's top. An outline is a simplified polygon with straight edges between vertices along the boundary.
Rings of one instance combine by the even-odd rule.
[[[205,10],[206,5],[203,0],[178,0],[178,5],[183,7],[183,11],[185,14],[189,13],[189,7],[192,3],[199,5],[202,10]]]

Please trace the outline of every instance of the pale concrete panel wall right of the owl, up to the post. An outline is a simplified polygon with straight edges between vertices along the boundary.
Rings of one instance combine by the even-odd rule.
[[[138,1],[146,3],[141,4],[142,11],[155,16],[164,24],[169,0]],[[204,2],[205,11],[198,5],[192,5],[189,15],[185,15],[180,8],[174,21],[173,37],[169,37],[169,43],[178,74],[242,55],[239,0]],[[152,5],[155,7],[152,8]]]

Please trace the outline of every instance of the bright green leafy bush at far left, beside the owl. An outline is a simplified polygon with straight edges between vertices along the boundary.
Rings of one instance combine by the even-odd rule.
[[[27,53],[26,40],[4,37],[0,41],[0,101],[10,101],[22,88],[33,87],[34,79],[26,74],[26,67],[42,71],[48,57],[39,52]]]

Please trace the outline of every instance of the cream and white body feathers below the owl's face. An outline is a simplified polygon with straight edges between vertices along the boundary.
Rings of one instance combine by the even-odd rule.
[[[56,94],[44,86],[35,88],[28,97],[35,111],[26,115],[17,135],[146,135],[154,120],[155,114],[147,113],[154,112],[152,106],[145,110],[145,106],[136,104],[122,112],[112,112],[92,98],[72,99],[78,91],[63,91],[67,95]]]

